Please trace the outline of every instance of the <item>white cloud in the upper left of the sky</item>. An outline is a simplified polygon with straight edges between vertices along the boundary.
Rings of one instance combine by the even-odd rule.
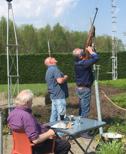
[[[14,15],[17,18],[37,18],[62,16],[65,11],[73,7],[78,0],[13,0]],[[0,0],[0,17],[7,15],[7,2]]]

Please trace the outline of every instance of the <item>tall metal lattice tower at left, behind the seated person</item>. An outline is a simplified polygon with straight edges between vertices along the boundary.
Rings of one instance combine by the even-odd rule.
[[[18,65],[18,40],[16,33],[16,26],[14,21],[14,13],[12,8],[12,0],[6,0],[8,3],[8,16],[7,16],[7,78],[8,78],[8,112],[11,111],[13,106],[13,97],[19,92],[19,65]],[[10,13],[12,14],[13,30],[15,42],[10,43]],[[12,52],[12,49],[15,50]]]

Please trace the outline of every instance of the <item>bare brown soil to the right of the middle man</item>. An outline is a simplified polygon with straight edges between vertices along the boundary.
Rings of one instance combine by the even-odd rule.
[[[78,98],[75,94],[75,88],[70,88],[70,97],[68,99],[69,103],[72,104],[72,106],[78,106]],[[101,103],[101,113],[102,117],[104,119],[109,117],[120,117],[124,118],[126,117],[126,111],[123,111],[117,107],[115,107],[113,104],[111,104],[103,95],[102,91],[105,92],[105,94],[110,97],[112,95],[116,95],[119,93],[125,92],[125,90],[108,87],[108,86],[100,86],[99,87],[99,96],[100,96],[100,103]],[[95,90],[94,87],[92,88],[92,98],[91,98],[91,110],[89,116],[91,118],[97,118],[97,109],[96,109],[96,97],[95,97]]]

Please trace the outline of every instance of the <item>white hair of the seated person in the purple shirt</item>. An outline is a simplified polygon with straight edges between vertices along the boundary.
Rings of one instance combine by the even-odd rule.
[[[15,104],[17,106],[25,106],[27,102],[32,101],[34,94],[30,89],[22,90],[15,99]]]

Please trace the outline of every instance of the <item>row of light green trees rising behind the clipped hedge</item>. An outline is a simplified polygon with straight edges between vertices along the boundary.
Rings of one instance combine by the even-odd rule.
[[[7,21],[4,17],[0,20],[0,53],[6,49]],[[19,53],[47,53],[48,40],[51,52],[71,53],[74,48],[84,48],[87,40],[87,32],[70,31],[59,23],[51,27],[35,28],[33,25],[16,26]],[[117,51],[124,51],[122,40],[116,38]],[[9,43],[15,43],[13,23],[9,21]],[[99,52],[112,51],[112,38],[109,35],[96,37],[96,48]],[[9,49],[13,53],[13,48]]]

